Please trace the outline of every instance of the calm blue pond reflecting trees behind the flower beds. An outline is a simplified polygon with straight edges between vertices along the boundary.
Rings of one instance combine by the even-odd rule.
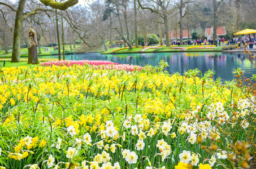
[[[220,77],[222,81],[231,81],[235,78],[233,69],[238,67],[244,70],[245,77],[256,74],[256,67],[247,60],[241,53],[222,52],[183,52],[183,53],[147,53],[147,54],[114,54],[101,55],[99,53],[66,55],[68,60],[109,60],[119,64],[133,65],[157,65],[160,60],[165,60],[170,65],[166,70],[170,73],[184,73],[188,69],[198,68],[202,73],[209,69],[215,71],[214,79]],[[40,56],[40,58],[58,58],[57,55]]]

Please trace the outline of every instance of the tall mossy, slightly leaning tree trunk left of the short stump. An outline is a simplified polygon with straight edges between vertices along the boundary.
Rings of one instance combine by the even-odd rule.
[[[20,62],[20,32],[21,24],[23,20],[23,11],[25,7],[26,0],[20,0],[18,10],[15,17],[14,25],[14,42],[12,45],[12,56],[11,62]]]

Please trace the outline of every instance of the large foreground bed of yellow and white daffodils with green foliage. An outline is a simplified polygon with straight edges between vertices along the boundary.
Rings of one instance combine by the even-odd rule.
[[[1,69],[0,168],[254,165],[255,97],[240,70],[222,83],[211,70],[169,74],[163,62],[44,65]]]

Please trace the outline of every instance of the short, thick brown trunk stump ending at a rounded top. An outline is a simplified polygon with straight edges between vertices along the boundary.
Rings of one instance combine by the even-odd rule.
[[[29,45],[28,45],[28,64],[39,64],[37,54],[37,35],[36,31],[29,28]]]

